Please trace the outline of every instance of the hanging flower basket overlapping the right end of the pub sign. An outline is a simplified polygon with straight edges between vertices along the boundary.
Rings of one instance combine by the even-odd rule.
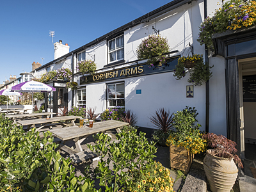
[[[178,60],[173,76],[176,77],[177,80],[180,80],[189,72],[188,82],[200,86],[212,77],[212,72],[210,71],[212,67],[213,65],[205,65],[202,54],[182,56],[182,58]]]

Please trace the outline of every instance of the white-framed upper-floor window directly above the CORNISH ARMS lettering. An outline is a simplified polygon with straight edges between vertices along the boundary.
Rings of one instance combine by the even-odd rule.
[[[124,35],[108,42],[109,63],[124,60]]]

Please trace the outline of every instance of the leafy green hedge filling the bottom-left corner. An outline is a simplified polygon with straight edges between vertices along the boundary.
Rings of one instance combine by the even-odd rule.
[[[40,139],[35,129],[22,127],[0,115],[0,191],[93,191],[93,182],[75,177],[68,158],[54,150],[51,132]]]

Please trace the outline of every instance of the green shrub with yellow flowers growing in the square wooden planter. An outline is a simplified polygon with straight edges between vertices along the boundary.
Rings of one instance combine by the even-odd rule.
[[[206,150],[206,140],[202,139],[200,133],[200,124],[195,125],[196,116],[195,108],[189,108],[182,111],[177,111],[173,117],[173,127],[175,131],[170,132],[170,136],[166,141],[166,145],[175,145],[177,147],[184,147],[192,154],[198,154]]]

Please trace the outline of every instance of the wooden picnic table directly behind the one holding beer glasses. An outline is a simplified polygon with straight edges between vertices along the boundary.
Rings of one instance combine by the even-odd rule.
[[[68,127],[68,125],[67,125],[68,120],[71,121],[73,126],[76,126],[74,120],[76,120],[77,118],[82,118],[82,117],[81,116],[73,116],[73,115],[71,115],[71,116],[56,116],[56,117],[52,117],[49,119],[38,118],[38,119],[32,119],[32,120],[19,120],[19,121],[17,121],[17,124],[20,124],[22,126],[28,125],[27,129],[30,129],[31,126],[35,127],[36,124],[43,124],[36,129],[36,131],[38,131],[38,130],[42,129],[43,127],[45,127],[45,125],[48,125],[48,124],[50,124],[50,129],[52,129],[51,124],[53,122],[59,122],[61,125]],[[65,122],[63,123],[62,121],[65,121]]]

